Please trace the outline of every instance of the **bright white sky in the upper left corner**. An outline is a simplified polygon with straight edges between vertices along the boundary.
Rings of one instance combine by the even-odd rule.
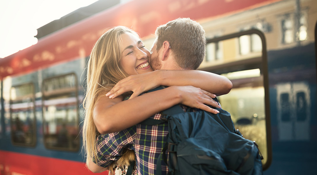
[[[36,29],[98,0],[0,0],[0,58],[37,43]]]

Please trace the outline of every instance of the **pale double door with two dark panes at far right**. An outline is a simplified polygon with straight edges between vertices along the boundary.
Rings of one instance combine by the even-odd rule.
[[[279,140],[309,140],[310,91],[306,82],[276,85]]]

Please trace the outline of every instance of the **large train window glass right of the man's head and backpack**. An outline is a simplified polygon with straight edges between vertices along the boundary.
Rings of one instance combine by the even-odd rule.
[[[256,141],[259,145],[264,157],[263,168],[266,169],[271,161],[271,149],[268,146],[270,123],[266,105],[268,70],[264,35],[259,30],[252,29],[208,39],[207,43],[222,43],[223,58],[203,62],[199,69],[230,79],[233,84],[230,93],[217,98],[223,109],[230,112],[236,129],[241,131],[243,137]],[[242,54],[249,55],[242,57]]]

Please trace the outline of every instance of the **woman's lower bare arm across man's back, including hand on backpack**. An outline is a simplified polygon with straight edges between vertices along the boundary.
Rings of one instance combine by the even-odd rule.
[[[218,113],[207,106],[218,106],[213,97],[213,94],[192,86],[171,86],[125,101],[122,96],[102,96],[94,107],[94,123],[101,134],[118,132],[180,103]]]

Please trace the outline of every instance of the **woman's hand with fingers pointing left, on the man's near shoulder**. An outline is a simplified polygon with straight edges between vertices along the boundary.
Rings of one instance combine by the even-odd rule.
[[[121,94],[133,91],[129,99],[139,96],[139,94],[160,86],[159,77],[156,72],[148,72],[145,74],[130,75],[125,79],[120,80],[111,90],[106,94],[109,98],[116,98]]]

